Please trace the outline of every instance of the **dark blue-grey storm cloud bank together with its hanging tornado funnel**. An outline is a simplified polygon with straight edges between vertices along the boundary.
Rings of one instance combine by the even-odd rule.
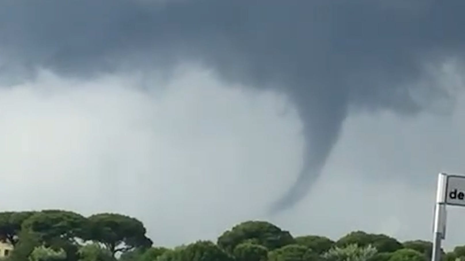
[[[447,97],[425,65],[464,58],[463,0],[6,0],[2,70],[73,77],[209,66],[226,81],[284,92],[304,122],[302,172],[273,206],[298,202],[349,107],[417,113]],[[433,94],[433,95],[431,95]]]

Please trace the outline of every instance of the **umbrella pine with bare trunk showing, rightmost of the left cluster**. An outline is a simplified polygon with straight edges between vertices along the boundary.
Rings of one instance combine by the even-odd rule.
[[[142,222],[133,217],[112,213],[90,216],[86,239],[102,243],[113,256],[118,252],[152,246]]]

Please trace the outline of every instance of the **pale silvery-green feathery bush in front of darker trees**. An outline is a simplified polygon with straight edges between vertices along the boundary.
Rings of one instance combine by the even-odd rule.
[[[350,244],[345,247],[334,247],[323,254],[326,261],[371,261],[378,251],[372,245],[359,247],[357,244]]]

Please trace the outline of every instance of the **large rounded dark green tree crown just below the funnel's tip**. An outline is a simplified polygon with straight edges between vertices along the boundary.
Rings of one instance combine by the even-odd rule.
[[[240,243],[249,242],[262,245],[269,250],[294,243],[288,231],[264,221],[247,221],[234,226],[218,238],[219,247],[232,253]]]

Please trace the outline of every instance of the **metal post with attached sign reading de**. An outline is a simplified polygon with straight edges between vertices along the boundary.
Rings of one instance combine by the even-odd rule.
[[[445,239],[446,205],[465,207],[465,176],[440,173],[436,190],[433,223],[432,261],[441,260],[441,241]]]

